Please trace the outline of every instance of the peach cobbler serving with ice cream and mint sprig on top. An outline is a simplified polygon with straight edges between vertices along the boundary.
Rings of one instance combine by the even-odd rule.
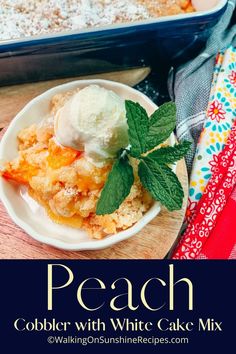
[[[155,200],[182,208],[172,166],[190,143],[168,146],[175,124],[173,102],[149,117],[98,85],[60,93],[46,117],[18,133],[18,156],[1,175],[25,185],[54,222],[101,239],[137,223]]]

